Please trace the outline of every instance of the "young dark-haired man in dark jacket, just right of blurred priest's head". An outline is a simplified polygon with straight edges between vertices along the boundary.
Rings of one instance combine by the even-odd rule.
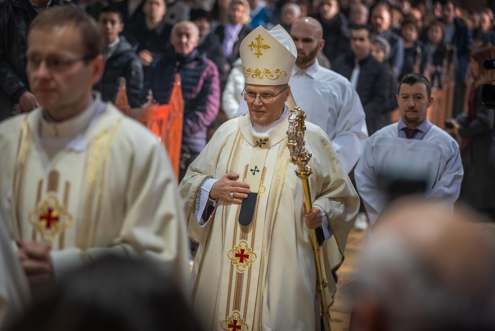
[[[126,81],[129,106],[141,105],[143,89],[143,66],[136,55],[136,48],[119,36],[124,28],[122,14],[114,5],[104,7],[99,14],[99,25],[103,33],[105,71],[95,89],[101,92],[103,101],[115,101],[118,92],[118,78]]]

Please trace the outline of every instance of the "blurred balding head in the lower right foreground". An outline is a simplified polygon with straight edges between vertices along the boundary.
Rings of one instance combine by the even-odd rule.
[[[495,330],[493,224],[419,198],[373,227],[354,281],[353,331]]]

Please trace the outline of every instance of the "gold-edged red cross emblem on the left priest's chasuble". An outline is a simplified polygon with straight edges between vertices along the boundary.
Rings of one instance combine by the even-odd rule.
[[[48,193],[45,199],[29,213],[29,222],[40,233],[43,240],[53,239],[72,224],[72,215],[60,205],[54,193]]]

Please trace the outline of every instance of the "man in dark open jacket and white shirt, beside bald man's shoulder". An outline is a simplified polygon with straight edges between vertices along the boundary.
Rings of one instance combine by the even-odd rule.
[[[390,124],[389,81],[383,63],[371,56],[370,31],[364,25],[351,27],[352,54],[338,59],[332,68],[349,79],[366,114],[368,134]]]

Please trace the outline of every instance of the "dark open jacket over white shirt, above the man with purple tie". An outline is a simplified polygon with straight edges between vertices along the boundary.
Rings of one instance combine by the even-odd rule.
[[[368,134],[371,136],[375,131],[390,124],[390,81],[387,68],[368,55],[359,61],[360,73],[357,80],[356,92],[361,99]],[[354,55],[337,59],[332,63],[332,69],[347,79],[350,78],[354,69]]]

